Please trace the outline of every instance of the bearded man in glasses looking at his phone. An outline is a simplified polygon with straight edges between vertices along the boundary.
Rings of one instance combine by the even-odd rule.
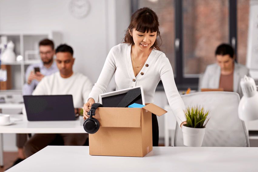
[[[23,95],[32,95],[32,92],[44,76],[51,75],[59,71],[54,61],[55,49],[52,40],[44,39],[39,42],[39,55],[42,61],[40,63],[28,66],[26,70]],[[23,147],[26,141],[27,134],[16,134],[18,159],[14,162],[13,166],[25,159]]]

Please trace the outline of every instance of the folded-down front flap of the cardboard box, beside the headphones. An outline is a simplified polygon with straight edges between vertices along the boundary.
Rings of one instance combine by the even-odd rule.
[[[141,127],[141,108],[98,108],[93,118],[101,127]]]

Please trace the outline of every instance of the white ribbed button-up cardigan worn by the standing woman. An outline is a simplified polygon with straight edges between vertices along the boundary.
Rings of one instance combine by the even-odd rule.
[[[153,103],[156,87],[162,80],[169,105],[178,124],[180,125],[183,121],[186,121],[183,112],[185,105],[176,88],[171,64],[164,53],[159,50],[152,50],[142,70],[135,77],[132,68],[131,45],[121,43],[114,46],[109,51],[99,79],[93,86],[89,98],[99,102],[99,95],[105,93],[114,73],[116,90],[141,85],[146,103]]]

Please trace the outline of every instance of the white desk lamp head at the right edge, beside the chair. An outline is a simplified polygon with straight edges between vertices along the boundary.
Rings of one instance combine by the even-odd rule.
[[[256,120],[258,119],[258,92],[254,79],[245,75],[240,84],[243,97],[238,106],[238,116],[243,121]]]

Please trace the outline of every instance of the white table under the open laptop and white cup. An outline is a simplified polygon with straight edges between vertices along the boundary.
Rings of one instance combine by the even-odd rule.
[[[23,115],[11,115],[23,119]],[[75,121],[18,121],[0,126],[0,166],[3,166],[3,133],[85,133],[79,119]]]

